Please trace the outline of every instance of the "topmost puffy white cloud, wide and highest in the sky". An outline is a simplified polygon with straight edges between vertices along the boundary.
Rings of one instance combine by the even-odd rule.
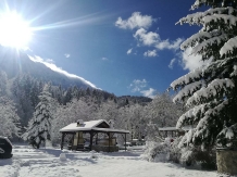
[[[149,15],[141,15],[140,12],[134,12],[127,20],[122,20],[118,17],[115,22],[115,26],[123,29],[134,29],[134,28],[149,28],[155,18]]]

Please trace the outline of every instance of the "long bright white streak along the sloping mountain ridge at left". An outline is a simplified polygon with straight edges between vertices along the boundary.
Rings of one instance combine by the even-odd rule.
[[[91,86],[92,88],[97,88],[93,84],[91,84],[90,81],[84,79],[83,77],[79,77],[79,76],[77,76],[77,75],[75,75],[75,74],[70,74],[70,73],[67,73],[66,71],[63,71],[62,68],[58,67],[55,64],[53,64],[53,63],[48,63],[47,61],[45,61],[42,58],[40,58],[40,56],[38,56],[38,55],[34,55],[34,56],[28,55],[28,56],[29,56],[29,59],[30,59],[32,61],[42,63],[42,64],[45,64],[47,67],[51,68],[51,69],[54,71],[54,72],[64,74],[64,75],[67,76],[67,77],[78,78],[78,79],[80,79],[82,81],[84,81],[85,84]],[[51,60],[51,61],[52,61],[52,60]]]

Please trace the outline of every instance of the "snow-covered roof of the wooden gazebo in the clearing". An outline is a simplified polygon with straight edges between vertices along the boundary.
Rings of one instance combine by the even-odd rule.
[[[109,123],[105,119],[97,119],[97,121],[90,121],[90,122],[84,122],[84,124],[77,126],[77,123],[72,123],[62,129],[60,129],[60,132],[65,131],[87,131],[87,130],[98,130],[98,131],[104,131],[104,132],[125,132],[129,134],[128,130],[124,129],[113,129],[113,128],[100,128],[97,127],[100,124],[105,123],[109,125]]]

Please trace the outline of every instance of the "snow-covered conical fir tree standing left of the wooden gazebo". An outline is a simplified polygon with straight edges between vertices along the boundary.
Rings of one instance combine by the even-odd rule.
[[[26,132],[23,135],[34,148],[39,148],[42,142],[51,140],[51,123],[57,102],[49,93],[49,86],[43,87],[39,96],[39,103],[35,108],[34,117],[29,121]]]

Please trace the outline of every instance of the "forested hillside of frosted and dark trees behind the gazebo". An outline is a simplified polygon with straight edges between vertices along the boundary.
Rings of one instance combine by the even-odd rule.
[[[47,97],[43,94],[47,92]],[[42,94],[50,101],[42,104]],[[59,130],[77,119],[113,119],[116,128],[128,129],[130,136],[155,139],[158,127],[175,126],[182,114],[169,94],[153,100],[145,97],[116,97],[100,89],[67,88],[42,81],[29,74],[8,77],[0,71],[1,130],[3,136],[21,136],[32,124],[36,113],[50,115],[48,131],[54,143],[60,141]],[[41,110],[40,110],[41,109]],[[38,111],[37,111],[38,110]]]

